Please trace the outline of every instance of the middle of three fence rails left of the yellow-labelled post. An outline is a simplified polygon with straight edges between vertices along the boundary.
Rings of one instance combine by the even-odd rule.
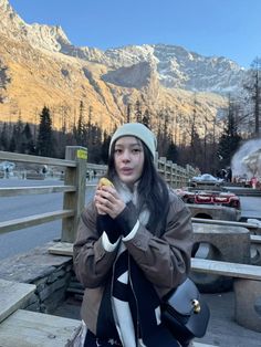
[[[76,191],[74,186],[38,186],[0,188],[0,197],[46,194],[54,192]]]

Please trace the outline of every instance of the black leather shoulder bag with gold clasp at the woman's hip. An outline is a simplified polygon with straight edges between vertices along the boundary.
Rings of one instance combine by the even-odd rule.
[[[163,299],[161,320],[181,345],[202,337],[209,317],[209,307],[190,278]]]

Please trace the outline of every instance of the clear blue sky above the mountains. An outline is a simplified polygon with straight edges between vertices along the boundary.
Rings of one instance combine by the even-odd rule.
[[[249,67],[261,57],[261,0],[10,0],[29,24],[61,25],[79,46],[165,43]]]

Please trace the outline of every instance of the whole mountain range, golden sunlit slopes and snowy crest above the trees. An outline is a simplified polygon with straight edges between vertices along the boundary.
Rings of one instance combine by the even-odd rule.
[[[22,114],[35,123],[35,113],[46,104],[60,118],[64,115],[58,108],[67,107],[75,123],[83,101],[86,115],[92,107],[94,122],[113,127],[137,99],[154,117],[163,107],[184,117],[196,107],[199,115],[216,117],[226,107],[226,93],[244,75],[226,57],[203,57],[181,46],[76,48],[59,25],[27,24],[8,0],[0,0],[0,13],[1,120]],[[54,124],[60,127],[61,120]]]

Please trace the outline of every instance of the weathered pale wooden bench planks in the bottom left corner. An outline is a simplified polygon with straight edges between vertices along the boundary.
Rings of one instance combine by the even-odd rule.
[[[20,309],[35,288],[34,284],[0,280],[1,347],[66,346],[79,332],[81,320]]]

